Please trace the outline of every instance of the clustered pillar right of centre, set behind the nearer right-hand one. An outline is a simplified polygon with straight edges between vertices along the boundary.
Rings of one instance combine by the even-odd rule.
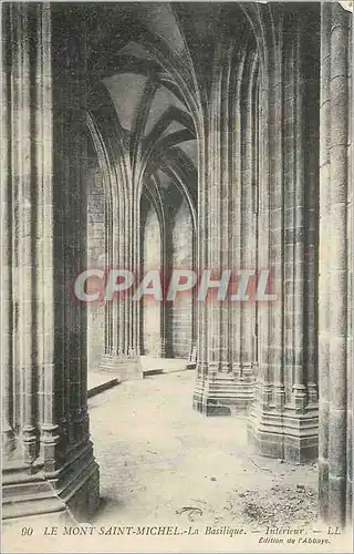
[[[219,281],[217,291],[206,299],[197,299],[194,408],[207,416],[229,414],[231,409],[247,410],[253,392],[253,341],[243,341],[242,329],[248,331],[242,319],[244,312],[238,300],[231,300],[236,295],[232,278],[242,261],[250,263],[243,254],[246,225],[251,225],[252,233],[252,187],[246,185],[250,185],[251,174],[249,99],[254,73],[251,71],[249,79],[244,76],[247,55],[244,44],[238,45],[237,51],[220,44],[209,111],[205,113],[199,140],[198,269],[199,275],[209,270],[210,280]],[[251,59],[252,55],[250,52]],[[247,89],[244,102],[241,101],[243,86]],[[230,90],[235,91],[232,101]],[[249,157],[241,163],[244,152]],[[232,275],[229,283],[228,270]]]

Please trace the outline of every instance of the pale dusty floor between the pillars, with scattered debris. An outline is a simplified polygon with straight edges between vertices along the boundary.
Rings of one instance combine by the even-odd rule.
[[[90,400],[103,496],[95,522],[291,523],[289,510],[261,513],[264,493],[279,502],[287,496],[302,523],[312,522],[315,466],[259,456],[247,444],[242,419],[192,411],[194,379],[181,371],[126,381]]]

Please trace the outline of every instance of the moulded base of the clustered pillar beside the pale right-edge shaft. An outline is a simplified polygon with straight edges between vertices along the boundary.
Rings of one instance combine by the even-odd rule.
[[[252,412],[248,424],[249,442],[267,458],[291,463],[315,461],[319,452],[319,411],[311,408],[296,413],[293,407],[283,411],[264,409]]]

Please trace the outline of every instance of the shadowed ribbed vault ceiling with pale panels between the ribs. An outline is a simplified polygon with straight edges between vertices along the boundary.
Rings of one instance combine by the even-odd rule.
[[[190,102],[207,96],[217,43],[249,32],[244,12],[233,2],[96,3],[85,24],[93,84],[107,89],[131,160],[148,160],[145,178],[174,165],[196,196]]]

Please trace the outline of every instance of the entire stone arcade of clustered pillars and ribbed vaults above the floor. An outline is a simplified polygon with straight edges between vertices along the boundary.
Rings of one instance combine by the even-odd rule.
[[[352,21],[339,2],[2,3],[4,519],[97,507],[87,367],[138,378],[144,353],[196,351],[190,404],[248,411],[264,455],[319,458],[321,516],[348,521]],[[87,267],[235,266],[269,268],[279,300],[67,293]]]

